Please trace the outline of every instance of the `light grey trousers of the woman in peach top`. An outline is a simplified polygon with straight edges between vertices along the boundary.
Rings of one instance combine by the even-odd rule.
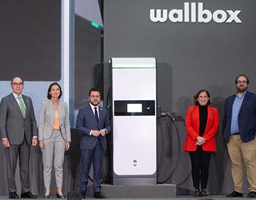
[[[63,162],[66,141],[64,141],[60,130],[54,130],[51,137],[49,139],[43,139],[43,141],[44,149],[42,149],[42,153],[44,166],[44,187],[50,187],[51,184],[53,156],[56,186],[61,187],[63,181]]]

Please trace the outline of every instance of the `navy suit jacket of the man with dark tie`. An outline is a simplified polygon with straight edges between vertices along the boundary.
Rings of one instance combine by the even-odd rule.
[[[100,139],[101,148],[105,150],[106,141],[105,136],[95,137],[90,136],[91,130],[106,129],[110,133],[110,119],[108,118],[108,111],[105,108],[99,106],[99,123],[97,123],[95,114],[91,109],[90,104],[79,109],[78,116],[76,118],[76,129],[81,134],[80,149],[90,150],[94,149],[98,139]]]

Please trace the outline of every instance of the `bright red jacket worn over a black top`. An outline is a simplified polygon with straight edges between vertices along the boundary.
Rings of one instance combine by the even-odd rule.
[[[212,106],[208,106],[207,124],[205,126],[205,133],[203,138],[207,141],[202,144],[204,151],[216,152],[215,134],[218,131],[218,110]],[[187,129],[187,136],[183,146],[183,151],[197,150],[197,137],[199,136],[199,106],[190,106],[187,111],[185,126]]]

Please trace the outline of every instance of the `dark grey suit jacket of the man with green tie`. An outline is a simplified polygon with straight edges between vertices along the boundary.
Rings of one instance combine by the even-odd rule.
[[[0,104],[0,136],[7,138],[10,144],[21,144],[26,136],[26,141],[31,144],[33,136],[38,136],[34,108],[31,98],[22,94],[26,106],[26,115],[23,118],[21,108],[13,93],[5,96]]]

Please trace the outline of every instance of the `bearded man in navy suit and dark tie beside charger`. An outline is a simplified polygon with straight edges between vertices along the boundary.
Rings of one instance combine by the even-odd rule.
[[[89,91],[87,106],[79,109],[76,119],[76,129],[81,134],[81,181],[80,191],[82,198],[85,198],[88,184],[88,174],[93,161],[93,186],[94,197],[105,199],[101,194],[101,163],[106,148],[105,134],[110,132],[110,120],[108,111],[99,106],[100,90],[92,88]]]

